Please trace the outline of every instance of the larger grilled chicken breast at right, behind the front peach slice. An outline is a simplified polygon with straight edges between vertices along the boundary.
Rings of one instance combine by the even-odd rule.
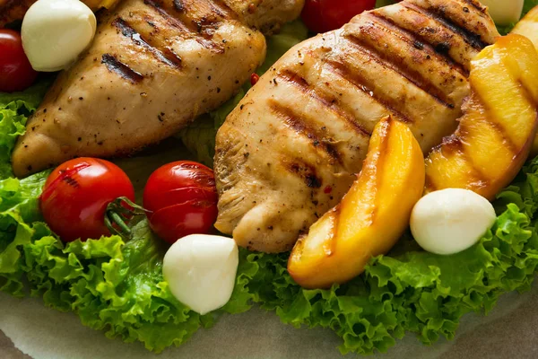
[[[427,153],[451,134],[470,60],[499,36],[474,0],[405,0],[292,48],[216,139],[215,227],[250,250],[291,250],[335,206],[386,115]]]

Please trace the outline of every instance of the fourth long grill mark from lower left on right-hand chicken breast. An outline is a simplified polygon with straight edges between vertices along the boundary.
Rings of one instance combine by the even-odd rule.
[[[375,25],[373,23],[372,25],[373,26],[369,26],[368,28],[361,27],[360,34],[373,34],[375,36]],[[438,90],[438,88],[430,82],[430,79],[423,77],[418,71],[405,65],[403,62],[397,61],[397,59],[394,56],[391,56],[390,53],[379,51],[372,44],[369,44],[356,34],[347,34],[344,39],[347,39],[354,46],[354,48],[358,49],[360,52],[370,57],[381,66],[400,74],[415,87],[421,89],[421,91],[424,93],[427,93],[435,101],[438,101],[438,103],[441,105],[447,107],[448,109],[454,109],[454,104],[447,101],[447,95],[445,92]]]

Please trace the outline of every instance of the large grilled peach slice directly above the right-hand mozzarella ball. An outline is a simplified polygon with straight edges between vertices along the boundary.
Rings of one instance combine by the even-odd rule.
[[[426,160],[426,192],[466,188],[493,199],[514,180],[538,125],[536,64],[532,42],[513,34],[473,59],[459,127]]]

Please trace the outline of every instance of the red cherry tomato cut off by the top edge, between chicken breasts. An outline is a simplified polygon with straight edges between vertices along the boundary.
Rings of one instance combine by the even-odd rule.
[[[307,0],[301,13],[310,31],[340,29],[351,18],[376,6],[376,0]]]

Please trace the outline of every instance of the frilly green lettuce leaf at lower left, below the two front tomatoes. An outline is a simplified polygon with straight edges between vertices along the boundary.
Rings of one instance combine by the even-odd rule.
[[[224,312],[251,307],[254,295],[247,290],[246,277],[253,265],[245,260],[230,302],[221,310],[200,316],[178,302],[162,276],[168,245],[154,236],[145,219],[134,225],[129,241],[111,236],[64,245],[45,223],[31,222],[39,218],[42,179],[46,173],[0,182],[0,188],[10,187],[0,190],[0,196],[11,204],[0,214],[1,290],[21,296],[26,280],[31,295],[42,297],[46,305],[74,311],[82,324],[105,330],[107,337],[139,340],[156,352],[184,343]],[[13,192],[17,187],[19,192]],[[15,204],[13,197],[20,202]]]

